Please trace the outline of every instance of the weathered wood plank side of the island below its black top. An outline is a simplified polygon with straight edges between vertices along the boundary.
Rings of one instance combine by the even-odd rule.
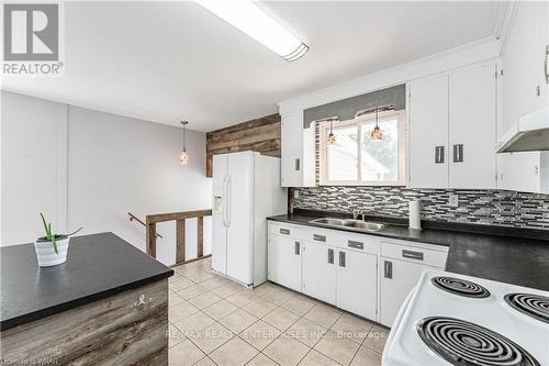
[[[167,335],[163,279],[2,332],[0,364],[167,366]]]

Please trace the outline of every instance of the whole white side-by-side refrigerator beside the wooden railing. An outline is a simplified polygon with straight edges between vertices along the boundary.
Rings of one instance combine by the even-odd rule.
[[[267,280],[267,220],[288,211],[280,158],[254,152],[213,156],[212,268],[246,286]]]

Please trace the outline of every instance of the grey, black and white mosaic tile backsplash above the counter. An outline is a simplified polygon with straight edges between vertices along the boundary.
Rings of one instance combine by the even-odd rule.
[[[405,219],[408,201],[422,200],[422,219],[549,231],[549,195],[507,190],[408,189],[402,187],[292,188],[298,209],[350,212]],[[298,195],[295,195],[298,192]],[[459,206],[448,206],[458,195]]]

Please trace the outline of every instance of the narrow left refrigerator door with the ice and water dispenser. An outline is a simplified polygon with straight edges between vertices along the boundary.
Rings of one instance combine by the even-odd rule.
[[[212,268],[224,275],[227,273],[227,228],[225,225],[227,180],[227,154],[214,155],[212,185]]]

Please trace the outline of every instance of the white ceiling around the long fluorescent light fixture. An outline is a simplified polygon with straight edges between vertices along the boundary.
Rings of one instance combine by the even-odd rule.
[[[211,131],[493,34],[497,2],[262,2],[311,46],[294,63],[193,2],[66,2],[66,73],[3,88]]]

